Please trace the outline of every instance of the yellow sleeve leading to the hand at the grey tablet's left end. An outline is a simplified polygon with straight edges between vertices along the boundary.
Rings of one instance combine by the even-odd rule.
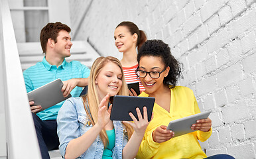
[[[139,152],[136,158],[152,158],[153,156],[155,156],[155,154],[157,154],[160,144],[153,140],[152,134],[153,131],[145,133],[141,142],[141,146],[139,146]]]

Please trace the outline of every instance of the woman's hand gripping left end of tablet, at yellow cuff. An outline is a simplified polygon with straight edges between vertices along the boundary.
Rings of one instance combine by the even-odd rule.
[[[174,136],[174,132],[166,130],[166,126],[161,125],[153,131],[152,136],[155,142],[161,143],[170,140]]]

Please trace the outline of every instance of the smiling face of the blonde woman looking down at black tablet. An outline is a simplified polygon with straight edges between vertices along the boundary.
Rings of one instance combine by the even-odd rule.
[[[110,96],[117,95],[122,86],[121,68],[113,62],[108,62],[99,72],[95,82],[99,99],[105,97],[107,93]]]

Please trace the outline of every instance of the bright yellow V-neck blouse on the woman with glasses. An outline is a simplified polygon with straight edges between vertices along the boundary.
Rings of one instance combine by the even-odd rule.
[[[137,158],[206,158],[207,156],[202,151],[198,140],[206,141],[212,134],[212,128],[209,132],[195,131],[162,143],[153,140],[152,133],[160,125],[167,126],[170,121],[175,119],[200,113],[198,103],[191,89],[176,86],[170,91],[170,113],[155,103],[154,118],[147,127]],[[143,91],[139,96],[148,97],[149,95]]]

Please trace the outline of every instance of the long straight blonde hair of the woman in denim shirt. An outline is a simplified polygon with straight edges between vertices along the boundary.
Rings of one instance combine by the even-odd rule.
[[[117,93],[117,95],[129,95],[128,93],[128,87],[125,82],[125,76],[123,74],[123,68],[121,66],[121,62],[112,56],[107,56],[107,57],[99,57],[94,61],[94,64],[92,64],[91,72],[90,72],[90,78],[89,78],[89,83],[88,83],[88,93],[84,96],[82,96],[83,102],[84,102],[84,107],[86,109],[86,104],[88,101],[88,107],[90,109],[92,117],[89,115],[87,109],[86,113],[92,123],[92,125],[95,125],[97,123],[97,113],[99,111],[99,97],[98,97],[98,92],[96,89],[96,78],[99,75],[99,72],[101,72],[102,68],[108,63],[108,62],[113,62],[114,64],[117,64],[119,68],[121,69],[122,72],[122,86],[120,91]],[[128,138],[131,137],[133,134],[133,128],[130,125],[124,124],[125,129],[128,134]],[[107,138],[107,133],[105,129],[103,129],[101,132],[99,132],[99,136],[104,144],[104,147],[107,146],[109,140]]]

